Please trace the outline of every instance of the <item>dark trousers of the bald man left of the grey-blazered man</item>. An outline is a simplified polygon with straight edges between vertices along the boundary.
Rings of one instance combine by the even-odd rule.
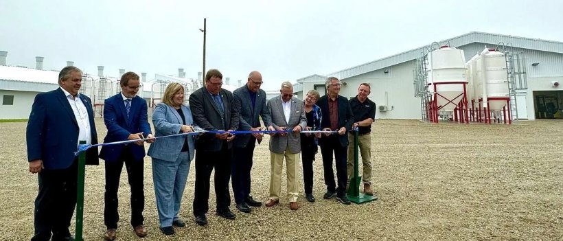
[[[233,148],[233,168],[231,171],[233,179],[233,194],[235,203],[244,202],[244,198],[250,196],[252,170],[252,158],[254,156],[254,142],[252,138],[244,148]]]

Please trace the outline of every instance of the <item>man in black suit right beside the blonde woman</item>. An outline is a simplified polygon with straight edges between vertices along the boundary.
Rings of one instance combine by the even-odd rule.
[[[233,106],[233,94],[221,89],[222,74],[209,69],[205,74],[205,86],[189,95],[194,123],[205,130],[236,130],[238,112]],[[240,108],[240,107],[239,107]],[[194,191],[194,216],[198,225],[207,225],[209,211],[209,179],[215,168],[216,214],[223,218],[235,219],[229,209],[231,194],[232,146],[235,135],[231,133],[207,133],[196,139],[196,188]]]

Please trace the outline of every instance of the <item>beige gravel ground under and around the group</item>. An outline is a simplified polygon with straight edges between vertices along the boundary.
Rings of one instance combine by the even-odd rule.
[[[37,177],[27,172],[25,125],[0,123],[0,240],[29,240],[33,233]],[[103,121],[97,119],[96,126],[102,139]],[[211,187],[209,225],[199,227],[192,216],[192,163],[181,209],[187,226],[170,237],[158,229],[147,157],[144,215],[149,234],[143,240],[563,240],[563,122],[509,126],[377,120],[372,133],[373,187],[379,200],[349,206],[324,200],[317,154],[316,203],[300,198],[300,209],[291,211],[282,198],[280,205],[254,208],[251,214],[231,205],[237,218],[225,220],[214,215]],[[268,196],[267,144],[266,138],[257,146],[252,170],[253,196],[259,200]],[[87,167],[86,175],[84,240],[102,240],[103,161]],[[123,173],[117,238],[139,240],[129,225],[126,180]],[[302,192],[302,172],[299,183]],[[285,192],[284,181],[282,196]]]

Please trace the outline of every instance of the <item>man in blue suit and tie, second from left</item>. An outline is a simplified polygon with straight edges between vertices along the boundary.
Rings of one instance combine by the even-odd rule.
[[[139,76],[133,72],[124,73],[119,85],[121,93],[109,97],[104,102],[104,123],[108,134],[104,143],[152,138],[150,124],[147,120],[147,102],[137,96],[141,87]],[[149,140],[152,143],[154,140]],[[106,161],[106,193],[104,207],[104,224],[108,228],[105,240],[115,240],[117,221],[117,188],[123,164],[127,169],[127,177],[131,187],[131,225],[139,237],[147,235],[143,226],[143,209],[145,194],[143,191],[145,146],[143,141],[133,144],[102,146],[100,158]]]

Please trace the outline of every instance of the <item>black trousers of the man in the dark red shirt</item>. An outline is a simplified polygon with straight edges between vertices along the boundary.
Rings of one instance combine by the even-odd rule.
[[[326,138],[326,139],[324,139]],[[331,135],[330,137],[323,137],[321,144],[321,154],[323,155],[323,169],[325,172],[325,185],[327,191],[334,192],[338,196],[345,195],[346,183],[348,181],[348,174],[346,170],[347,165],[347,146],[341,146],[338,135]],[[338,178],[338,188],[334,182],[334,171],[332,170],[332,152],[334,152],[334,160],[336,162],[336,176]]]

